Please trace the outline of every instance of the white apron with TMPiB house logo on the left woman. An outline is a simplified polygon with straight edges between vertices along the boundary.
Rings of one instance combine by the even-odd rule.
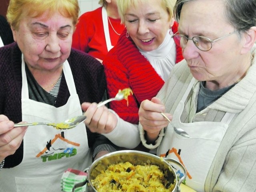
[[[23,55],[22,55],[23,56]],[[63,72],[70,92],[68,102],[54,107],[28,98],[28,83],[22,57],[22,121],[58,123],[82,114],[68,61]],[[51,126],[28,127],[21,164],[0,171],[1,192],[60,192],[61,176],[67,168],[83,170],[91,164],[86,127],[69,130]]]

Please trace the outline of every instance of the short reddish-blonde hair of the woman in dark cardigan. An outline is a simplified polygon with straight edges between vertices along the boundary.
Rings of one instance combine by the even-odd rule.
[[[6,18],[14,29],[18,29],[24,17],[35,18],[45,12],[48,12],[48,18],[56,12],[64,17],[72,18],[75,26],[80,9],[77,0],[10,0]]]

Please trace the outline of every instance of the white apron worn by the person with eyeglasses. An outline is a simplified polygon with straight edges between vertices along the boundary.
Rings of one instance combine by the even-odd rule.
[[[169,125],[162,143],[158,147],[157,154],[163,157],[168,154],[168,157],[183,163],[187,170],[186,185],[197,192],[204,192],[206,176],[228,125],[235,114],[226,113],[221,122],[181,123],[180,117],[184,109],[184,101],[188,97],[194,81],[193,78],[175,109],[172,119],[173,125],[184,129],[190,135],[190,138],[177,135]],[[200,113],[204,113],[204,110]],[[178,176],[183,176],[184,173],[180,168],[175,167],[175,165],[174,168]]]

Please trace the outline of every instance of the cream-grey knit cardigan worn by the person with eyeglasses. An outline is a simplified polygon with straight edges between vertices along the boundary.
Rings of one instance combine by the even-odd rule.
[[[193,110],[190,119],[197,121],[221,121],[226,112],[236,113],[212,162],[204,190],[206,192],[253,192],[256,191],[256,47],[252,49],[254,60],[246,76],[206,109],[196,113],[197,83],[193,95]],[[185,60],[178,63],[168,81],[156,97],[166,107],[166,113],[174,113],[192,75]],[[191,94],[191,93],[190,93]],[[188,98],[190,95],[188,96]],[[185,104],[181,122],[188,123],[188,108]],[[155,145],[146,144],[144,131],[139,125],[142,143],[148,148],[159,146],[164,129]],[[162,135],[162,136],[161,136]]]

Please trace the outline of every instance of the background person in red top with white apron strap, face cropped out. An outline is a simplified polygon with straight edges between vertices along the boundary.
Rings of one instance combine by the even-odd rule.
[[[102,7],[82,14],[73,34],[72,48],[89,53],[100,62],[116,45],[124,30],[116,0],[100,0]]]

